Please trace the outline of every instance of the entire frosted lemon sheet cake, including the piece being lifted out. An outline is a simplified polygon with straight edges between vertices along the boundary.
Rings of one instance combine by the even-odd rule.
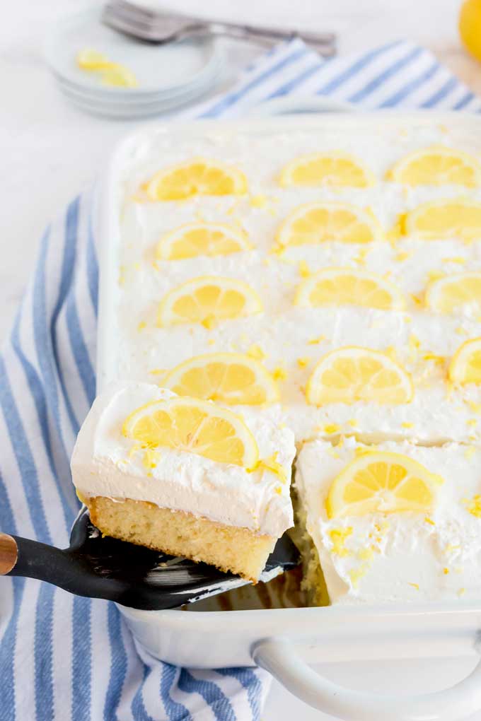
[[[100,386],[133,385],[102,396],[74,455],[74,481],[102,531],[257,578],[266,547],[250,553],[247,572],[234,537],[195,545],[200,527],[183,536],[180,527],[188,519],[207,533],[215,523],[272,547],[291,523],[280,480],[294,454],[291,429],[314,603],[475,593],[479,156],[477,124],[425,119],[141,133],[115,182],[115,279],[110,272],[100,309]],[[166,450],[171,428],[149,469],[151,443],[120,433],[145,402],[194,399],[242,420],[260,466],[222,464],[182,444]],[[404,459],[395,467],[410,482],[344,513],[342,492],[330,489],[350,464],[374,458],[363,443],[387,454],[384,469],[393,454]],[[115,462],[102,456],[107,447]],[[206,464],[215,480],[191,481]],[[415,508],[401,510],[406,489]],[[169,539],[159,530],[170,528],[166,513]]]

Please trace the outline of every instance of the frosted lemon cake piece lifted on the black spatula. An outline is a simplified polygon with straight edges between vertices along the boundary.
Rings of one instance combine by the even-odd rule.
[[[102,533],[257,580],[293,525],[294,436],[252,412],[110,385],[82,425],[74,484]]]

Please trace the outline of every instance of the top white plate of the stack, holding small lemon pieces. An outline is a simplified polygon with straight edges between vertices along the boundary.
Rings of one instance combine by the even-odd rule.
[[[64,17],[50,31],[45,40],[45,58],[56,76],[78,88],[98,92],[99,96],[137,97],[169,94],[215,74],[220,57],[213,38],[151,45],[120,35],[102,25],[100,17],[101,8],[92,7]],[[138,78],[138,87],[102,86],[96,73],[83,71],[76,64],[76,54],[84,48],[98,50],[128,67]]]

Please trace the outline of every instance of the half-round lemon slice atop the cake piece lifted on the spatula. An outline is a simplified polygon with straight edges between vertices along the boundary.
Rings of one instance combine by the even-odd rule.
[[[175,448],[247,469],[259,459],[255,438],[239,415],[196,398],[147,403],[128,416],[122,433],[143,448]]]

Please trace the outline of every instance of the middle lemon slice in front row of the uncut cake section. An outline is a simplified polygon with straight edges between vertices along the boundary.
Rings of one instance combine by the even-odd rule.
[[[350,345],[327,353],[312,372],[306,399],[313,405],[356,401],[408,403],[413,388],[409,373],[389,355]]]

